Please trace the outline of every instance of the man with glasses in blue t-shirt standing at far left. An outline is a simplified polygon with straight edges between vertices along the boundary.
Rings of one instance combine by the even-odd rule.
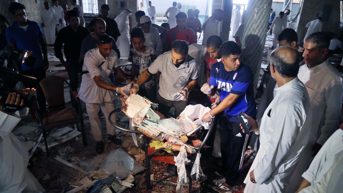
[[[45,78],[45,71],[49,67],[47,48],[42,29],[37,22],[27,19],[27,12],[23,4],[13,2],[9,6],[9,11],[15,21],[12,26],[6,29],[8,45],[14,48],[32,51],[31,56],[36,58],[33,64],[13,61],[15,70],[19,74],[35,77],[37,79],[36,84],[25,83],[25,87],[36,87],[39,81]],[[44,58],[39,45],[42,46]]]

